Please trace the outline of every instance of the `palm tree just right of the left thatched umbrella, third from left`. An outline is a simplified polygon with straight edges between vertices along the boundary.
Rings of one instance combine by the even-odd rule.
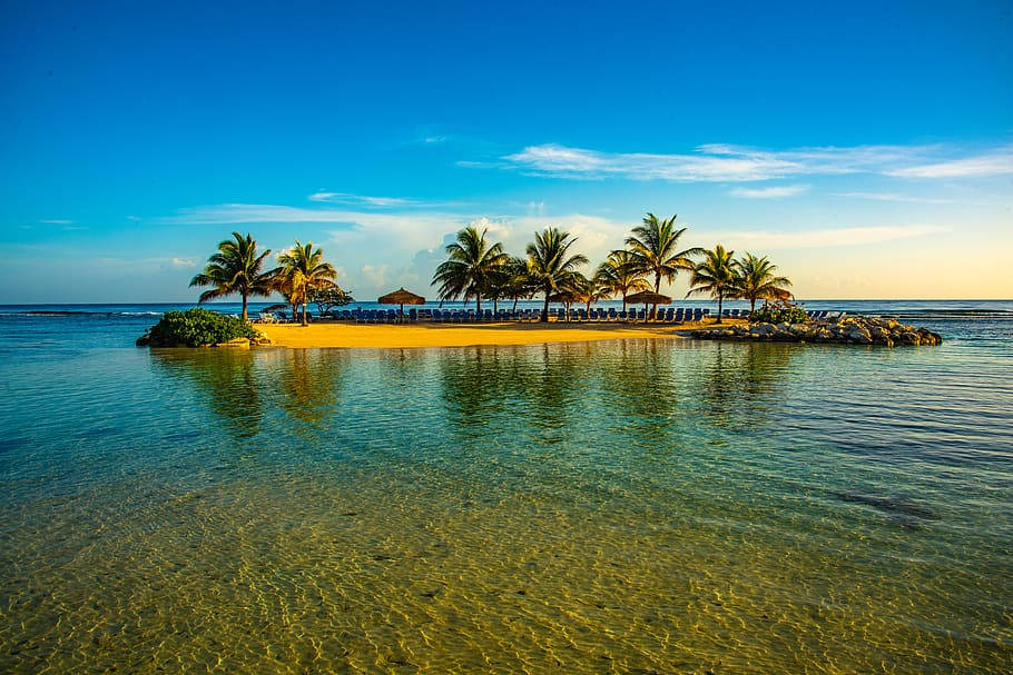
[[[458,240],[446,247],[448,259],[440,264],[433,275],[433,284],[441,284],[437,295],[441,300],[464,301],[475,299],[478,311],[482,311],[482,296],[493,284],[493,277],[510,259],[503,252],[502,244],[489,245],[485,232],[468,226],[458,232]]]

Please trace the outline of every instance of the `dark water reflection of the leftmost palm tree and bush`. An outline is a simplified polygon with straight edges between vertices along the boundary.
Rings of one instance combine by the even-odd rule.
[[[264,419],[257,360],[249,349],[151,349],[151,360],[176,379],[194,383],[201,400],[236,439],[252,438]]]

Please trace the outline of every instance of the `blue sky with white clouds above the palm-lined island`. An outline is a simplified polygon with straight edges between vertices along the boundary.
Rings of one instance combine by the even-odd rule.
[[[647,211],[803,298],[1013,297],[1009,2],[85,4],[0,10],[0,302],[193,299],[234,229],[431,294],[468,222]]]

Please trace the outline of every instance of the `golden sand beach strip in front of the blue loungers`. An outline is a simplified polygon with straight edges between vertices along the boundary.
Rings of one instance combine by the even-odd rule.
[[[710,321],[707,322],[710,325]],[[472,345],[537,345],[627,338],[680,338],[700,324],[348,324],[318,322],[257,325],[257,330],[282,347],[469,347]]]

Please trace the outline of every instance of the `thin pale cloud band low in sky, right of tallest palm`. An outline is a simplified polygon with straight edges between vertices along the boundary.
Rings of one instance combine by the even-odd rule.
[[[909,239],[946,231],[935,225],[894,225],[882,227],[846,227],[804,230],[797,232],[777,231],[714,231],[699,236],[716,239],[732,249],[784,250],[796,248],[839,248],[869,246],[897,239]]]

